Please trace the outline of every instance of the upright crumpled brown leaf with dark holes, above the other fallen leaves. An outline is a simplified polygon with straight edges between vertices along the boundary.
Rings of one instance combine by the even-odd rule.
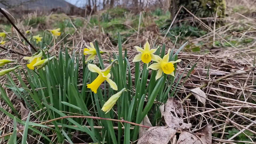
[[[183,122],[183,112],[184,110],[181,102],[173,97],[168,98],[163,114],[166,124],[175,130],[191,128],[191,123]]]

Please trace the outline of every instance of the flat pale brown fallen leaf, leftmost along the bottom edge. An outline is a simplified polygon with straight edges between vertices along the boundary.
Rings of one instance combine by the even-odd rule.
[[[177,130],[168,126],[151,127],[137,144],[168,144],[176,132]]]

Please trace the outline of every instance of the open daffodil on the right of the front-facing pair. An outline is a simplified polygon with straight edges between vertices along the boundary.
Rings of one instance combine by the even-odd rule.
[[[169,74],[174,76],[174,63],[180,62],[181,60],[176,61],[169,61],[169,55],[170,55],[171,49],[168,50],[168,53],[161,59],[159,56],[155,55],[156,63],[151,64],[148,68],[152,70],[158,70],[156,75],[156,80],[160,78],[163,74]]]

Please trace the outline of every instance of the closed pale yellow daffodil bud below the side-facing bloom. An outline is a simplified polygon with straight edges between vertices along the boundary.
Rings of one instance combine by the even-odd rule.
[[[115,105],[118,98],[122,95],[122,92],[126,91],[126,88],[123,88],[120,92],[116,93],[115,95],[111,96],[110,99],[103,105],[101,108],[102,111],[108,113],[113,106]]]

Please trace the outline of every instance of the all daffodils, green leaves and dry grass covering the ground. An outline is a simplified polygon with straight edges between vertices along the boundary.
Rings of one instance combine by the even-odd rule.
[[[0,24],[0,144],[255,144],[254,9],[154,7]]]

